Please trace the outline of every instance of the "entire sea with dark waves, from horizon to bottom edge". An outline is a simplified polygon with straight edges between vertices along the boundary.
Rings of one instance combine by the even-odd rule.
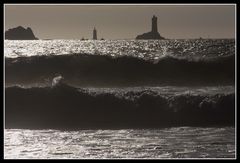
[[[235,39],[5,40],[4,158],[236,158]]]

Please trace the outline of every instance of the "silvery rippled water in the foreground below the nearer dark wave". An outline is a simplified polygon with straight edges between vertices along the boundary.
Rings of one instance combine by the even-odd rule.
[[[5,130],[5,158],[234,158],[235,129]]]

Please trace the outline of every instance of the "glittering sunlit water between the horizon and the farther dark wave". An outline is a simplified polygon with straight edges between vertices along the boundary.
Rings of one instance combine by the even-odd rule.
[[[209,40],[5,40],[6,57],[63,54],[98,54],[159,59],[164,55],[205,58],[234,55],[234,39]]]

